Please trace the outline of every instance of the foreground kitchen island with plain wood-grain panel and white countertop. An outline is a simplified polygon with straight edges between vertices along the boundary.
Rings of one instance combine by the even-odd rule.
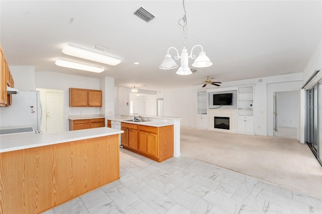
[[[120,130],[0,136],[0,213],[39,213],[120,178]]]

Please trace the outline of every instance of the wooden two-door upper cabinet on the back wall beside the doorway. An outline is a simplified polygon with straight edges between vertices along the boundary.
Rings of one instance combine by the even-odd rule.
[[[102,90],[69,88],[70,107],[102,107]]]

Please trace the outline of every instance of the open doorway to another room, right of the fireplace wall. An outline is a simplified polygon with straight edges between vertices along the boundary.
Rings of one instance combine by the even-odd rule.
[[[274,92],[274,136],[297,139],[299,91]]]

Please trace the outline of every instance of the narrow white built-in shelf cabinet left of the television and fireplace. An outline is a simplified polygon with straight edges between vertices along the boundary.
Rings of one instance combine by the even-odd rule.
[[[197,128],[208,128],[207,91],[197,91]]]

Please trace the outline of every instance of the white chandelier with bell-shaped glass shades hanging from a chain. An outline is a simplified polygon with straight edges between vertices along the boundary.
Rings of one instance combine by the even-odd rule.
[[[178,67],[178,64],[176,63],[176,61],[169,54],[169,51],[171,49],[175,49],[176,52],[177,52],[177,55],[175,56],[175,59],[176,60],[181,59],[181,66],[179,67],[179,69],[178,69],[178,71],[176,73],[180,74],[180,75],[189,75],[189,74],[192,74],[192,72],[191,72],[191,70],[190,70],[190,68],[188,66],[188,59],[189,58],[191,58],[191,59],[196,58],[196,55],[192,54],[192,51],[194,50],[195,47],[200,47],[201,52],[199,53],[199,56],[196,58],[194,63],[192,63],[192,66],[198,67],[198,68],[204,68],[204,67],[211,66],[212,62],[210,62],[210,59],[206,56],[206,53],[203,51],[203,47],[201,45],[195,45],[191,49],[190,55],[188,54],[188,50],[186,49],[187,14],[186,14],[185,1],[184,0],[183,0],[183,9],[184,9],[185,15],[178,22],[179,25],[183,27],[183,33],[184,33],[183,49],[182,49],[181,55],[179,55],[179,51],[175,47],[170,47],[168,49],[168,53],[167,53],[165,59],[163,60],[162,64],[159,66],[159,68],[160,69],[165,69],[165,70],[170,70],[170,69],[174,69],[174,68]]]

